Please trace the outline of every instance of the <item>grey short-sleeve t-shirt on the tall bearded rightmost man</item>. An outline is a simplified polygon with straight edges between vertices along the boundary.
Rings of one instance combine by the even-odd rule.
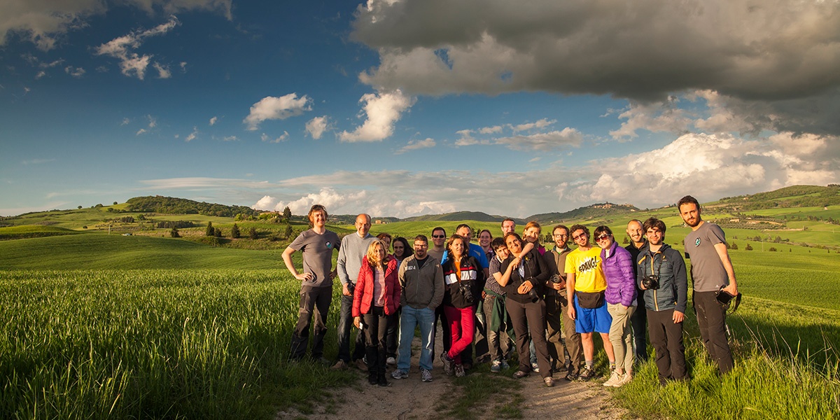
[[[694,291],[718,291],[729,285],[727,269],[715,249],[716,244],[726,243],[723,229],[715,223],[703,222],[700,228],[685,235],[685,258],[691,260]]]

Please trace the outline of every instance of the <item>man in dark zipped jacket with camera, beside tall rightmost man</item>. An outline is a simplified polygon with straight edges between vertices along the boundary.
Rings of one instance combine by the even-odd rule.
[[[688,278],[680,251],[664,243],[665,223],[648,218],[643,229],[648,246],[638,255],[637,286],[644,294],[650,343],[656,351],[659,384],[688,379],[685,370],[683,320],[688,302]]]

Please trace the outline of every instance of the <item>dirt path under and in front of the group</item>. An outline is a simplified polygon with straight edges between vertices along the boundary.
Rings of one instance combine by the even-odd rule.
[[[440,335],[438,335],[439,337]],[[427,419],[442,417],[440,405],[442,401],[451,398],[459,392],[452,379],[444,375],[440,362],[435,360],[432,382],[420,381],[420,371],[417,366],[419,358],[419,339],[412,343],[412,367],[408,379],[391,379],[393,366],[388,366],[388,381],[390,386],[370,386],[367,383],[367,373],[350,368],[358,372],[360,381],[355,386],[348,386],[331,391],[328,404],[315,407],[311,414],[303,414],[296,409],[279,412],[277,420],[302,419],[312,420],[354,420],[354,419]],[[437,353],[439,349],[438,344]],[[504,381],[501,375],[509,377],[513,370],[503,371],[501,374],[474,372],[470,375],[500,375],[499,381]],[[468,372],[469,373],[469,372]],[[610,391],[601,386],[603,381],[570,382],[562,375],[554,375],[554,387],[543,385],[539,375],[530,375],[520,380],[522,389],[517,391],[527,398],[521,404],[523,418],[575,418],[580,420],[612,419],[627,417],[627,411],[611,401]],[[487,402],[491,407],[494,402]],[[486,408],[485,407],[485,408]],[[490,411],[486,415],[492,417]]]

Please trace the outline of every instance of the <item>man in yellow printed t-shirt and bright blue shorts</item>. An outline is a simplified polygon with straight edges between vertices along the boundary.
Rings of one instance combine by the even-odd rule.
[[[571,234],[578,248],[566,255],[566,299],[569,302],[569,318],[575,320],[575,331],[580,333],[586,364],[580,370],[578,379],[589,381],[595,376],[592,333],[601,333],[606,358],[610,360],[610,365],[615,364],[616,357],[609,339],[612,317],[606,311],[604,299],[606,277],[601,267],[601,249],[592,246],[589,228],[575,224]]]

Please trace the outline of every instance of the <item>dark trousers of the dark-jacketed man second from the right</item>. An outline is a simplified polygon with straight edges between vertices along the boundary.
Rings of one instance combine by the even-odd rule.
[[[647,311],[650,329],[650,344],[656,352],[656,367],[659,368],[659,383],[673,379],[688,379],[685,369],[685,344],[683,344],[683,323],[674,323],[674,309]]]

